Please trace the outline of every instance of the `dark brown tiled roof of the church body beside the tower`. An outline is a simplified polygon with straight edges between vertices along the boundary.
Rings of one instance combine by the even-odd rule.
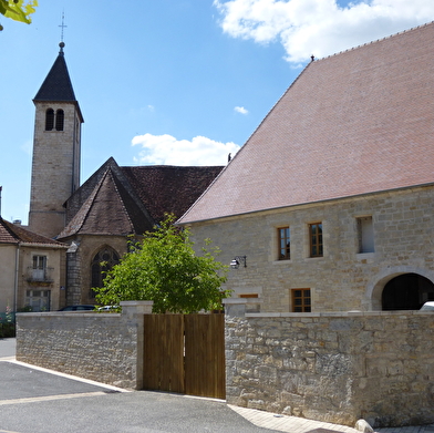
[[[120,167],[108,158],[66,202],[59,239],[78,234],[143,234],[165,213],[183,215],[223,167]]]

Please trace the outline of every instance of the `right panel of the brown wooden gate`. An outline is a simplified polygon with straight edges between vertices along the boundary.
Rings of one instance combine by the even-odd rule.
[[[185,393],[226,398],[225,317],[186,315]]]

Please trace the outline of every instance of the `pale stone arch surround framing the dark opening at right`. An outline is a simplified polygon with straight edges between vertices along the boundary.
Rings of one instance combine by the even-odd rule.
[[[383,309],[382,295],[385,286],[394,278],[409,274],[414,274],[420,277],[423,277],[434,286],[433,270],[421,269],[414,266],[396,266],[384,268],[378,275],[375,275],[368,283],[364,301],[365,310],[381,311]]]

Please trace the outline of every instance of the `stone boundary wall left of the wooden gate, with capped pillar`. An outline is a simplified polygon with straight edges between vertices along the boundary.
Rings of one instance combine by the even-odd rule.
[[[149,301],[123,312],[17,315],[17,360],[120,388],[143,388],[143,317]]]

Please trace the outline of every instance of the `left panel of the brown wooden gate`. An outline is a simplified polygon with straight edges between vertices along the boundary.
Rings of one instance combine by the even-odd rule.
[[[185,392],[183,315],[145,315],[144,388]]]

